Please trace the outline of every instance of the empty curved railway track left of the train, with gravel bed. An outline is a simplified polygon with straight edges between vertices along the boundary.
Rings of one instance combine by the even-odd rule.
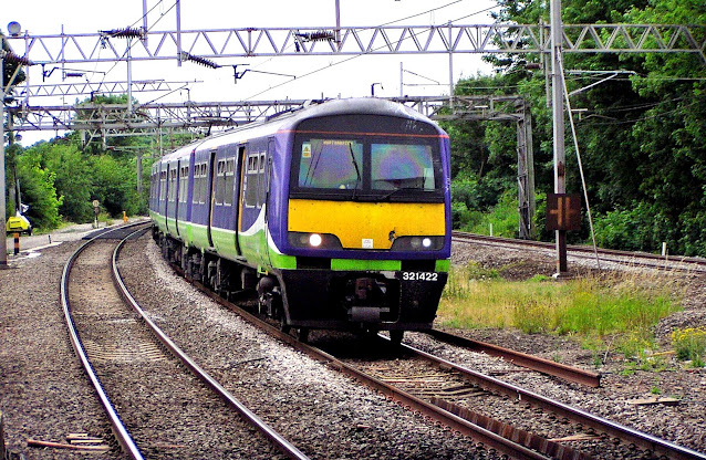
[[[90,240],[70,258],[61,282],[72,345],[124,454],[307,459],[180,352],[126,292],[117,254],[131,234],[145,229],[121,228]],[[242,424],[232,422],[233,411]],[[252,439],[252,429],[262,436]],[[194,439],[209,446],[188,441]]]

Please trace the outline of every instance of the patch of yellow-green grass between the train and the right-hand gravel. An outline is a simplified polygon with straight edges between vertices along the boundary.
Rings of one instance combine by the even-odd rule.
[[[640,359],[654,348],[653,326],[681,310],[679,296],[678,284],[648,275],[505,281],[469,265],[449,273],[438,314],[448,327],[569,335],[594,351],[598,365],[611,351]]]

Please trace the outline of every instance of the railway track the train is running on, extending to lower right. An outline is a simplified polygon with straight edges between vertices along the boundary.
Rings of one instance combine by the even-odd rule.
[[[385,394],[427,417],[458,432],[469,436],[491,450],[510,458],[520,459],[584,459],[584,458],[669,458],[706,459],[706,454],[674,445],[651,435],[640,432],[620,424],[593,416],[541,395],[476,373],[430,354],[402,345],[402,355],[394,347],[375,342],[366,352],[356,356],[341,356],[341,349],[320,349],[299,342],[277,325],[235,305],[195,283],[211,299],[236,310],[248,322],[279,337],[316,360],[349,375]],[[375,338],[375,341],[386,337]],[[340,344],[339,344],[340,345]],[[351,351],[355,346],[343,346]],[[370,354],[378,354],[373,357]],[[382,351],[382,352],[381,352]],[[366,355],[366,353],[368,355]],[[380,355],[382,353],[382,355]],[[384,356],[387,354],[388,356]],[[343,353],[345,355],[345,353]],[[411,374],[399,368],[399,363],[409,360]],[[458,400],[460,397],[460,401]],[[480,406],[466,404],[468,399],[480,401]],[[494,402],[489,402],[492,399]],[[488,405],[512,405],[517,407],[513,420],[496,420],[484,414]],[[540,417],[541,415],[541,417]],[[553,435],[540,436],[532,424],[543,418],[547,425],[540,431]],[[529,429],[515,427],[516,421],[531,421]],[[568,442],[582,442],[582,452]],[[608,450],[613,457],[605,457]]]

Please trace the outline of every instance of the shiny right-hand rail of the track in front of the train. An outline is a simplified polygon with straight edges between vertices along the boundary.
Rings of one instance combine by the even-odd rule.
[[[656,452],[657,454],[666,456],[666,458],[668,459],[706,460],[706,454],[699,453],[695,450],[692,450],[682,446],[677,446],[673,442],[666,441],[664,439],[660,439],[657,437],[647,435],[642,431],[637,431],[635,429],[625,427],[623,425],[604,419],[602,417],[594,416],[582,409],[578,409],[575,407],[565,405],[563,402],[552,400],[544,396],[538,395],[533,391],[529,391],[516,385],[499,380],[495,377],[490,377],[490,376],[477,373],[475,370],[468,369],[467,367],[459,366],[457,364],[439,358],[438,356],[434,356],[429,353],[423,352],[409,345],[401,344],[401,347],[408,353],[412,353],[416,356],[434,362],[443,368],[454,369],[463,374],[466,378],[473,380],[478,386],[480,386],[481,388],[488,391],[496,391],[502,395],[507,395],[509,397],[517,398],[525,402],[529,402],[532,406],[541,407],[542,409],[547,409],[553,414],[557,414],[562,417],[567,417],[570,420],[574,420],[579,424],[582,424],[585,427],[591,427],[595,429],[596,431],[606,432],[609,436],[612,436],[614,438],[622,439],[635,446],[640,446],[643,449],[652,450],[653,452]]]

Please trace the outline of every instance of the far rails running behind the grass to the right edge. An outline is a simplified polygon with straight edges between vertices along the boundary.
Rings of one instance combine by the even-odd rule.
[[[475,242],[479,244],[503,244],[505,243],[505,244],[513,244],[513,245],[521,245],[521,247],[531,247],[531,248],[537,248],[542,250],[554,249],[554,243],[544,242],[544,241],[517,240],[517,239],[503,238],[503,237],[488,237],[486,234],[466,233],[460,231],[454,231],[453,237],[454,239],[458,241]],[[569,244],[567,249],[571,252],[574,252],[573,254],[570,253],[569,255],[586,257],[591,259],[594,258],[593,248],[590,248],[590,247]],[[601,249],[601,248],[599,248],[598,252],[600,255],[609,257],[608,259],[601,259],[602,261],[606,261],[606,262],[632,264],[636,266],[648,266],[648,268],[656,268],[656,269],[663,269],[663,270],[699,272],[699,273],[706,272],[706,259],[703,259],[703,258],[691,258],[686,255],[678,255],[678,257],[675,255],[669,258],[668,255],[664,257],[664,255],[651,254],[648,252],[631,252],[631,251],[621,251],[616,249]],[[583,255],[583,254],[586,254],[586,255]],[[610,257],[627,258],[630,260],[611,259]],[[644,261],[640,261],[640,259],[643,259]],[[681,264],[687,264],[692,266],[685,266],[685,268],[669,266],[667,265],[668,263],[681,263]]]

